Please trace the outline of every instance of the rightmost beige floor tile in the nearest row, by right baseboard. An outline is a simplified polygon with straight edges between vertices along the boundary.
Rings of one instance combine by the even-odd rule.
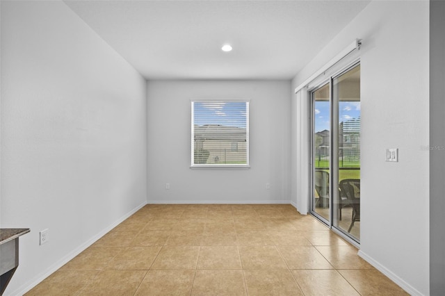
[[[409,295],[378,270],[339,270],[360,295]]]

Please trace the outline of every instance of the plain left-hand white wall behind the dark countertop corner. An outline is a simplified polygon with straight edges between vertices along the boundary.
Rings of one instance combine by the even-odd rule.
[[[31,228],[17,295],[146,203],[146,83],[65,3],[1,1],[1,84],[1,227]]]

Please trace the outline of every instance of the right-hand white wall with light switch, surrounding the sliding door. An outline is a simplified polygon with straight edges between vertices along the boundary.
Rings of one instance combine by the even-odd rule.
[[[293,79],[363,39],[359,254],[413,295],[429,293],[428,15],[428,1],[373,1]],[[386,148],[399,149],[398,163],[385,162]]]

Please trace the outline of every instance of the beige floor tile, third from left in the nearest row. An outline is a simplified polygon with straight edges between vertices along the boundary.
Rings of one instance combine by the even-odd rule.
[[[190,295],[195,270],[149,270],[135,295]]]

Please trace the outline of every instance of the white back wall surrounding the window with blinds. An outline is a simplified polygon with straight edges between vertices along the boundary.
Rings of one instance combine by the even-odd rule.
[[[149,203],[290,202],[290,81],[149,81],[147,93]],[[190,168],[196,98],[250,99],[250,169]]]

